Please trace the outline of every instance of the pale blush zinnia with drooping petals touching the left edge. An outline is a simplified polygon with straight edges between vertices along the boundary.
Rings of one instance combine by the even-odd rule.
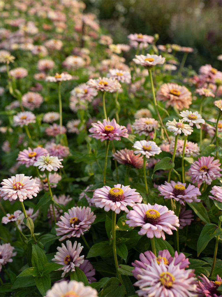
[[[27,198],[36,197],[39,192],[39,184],[36,184],[35,179],[30,179],[31,177],[25,176],[25,174],[16,174],[11,178],[3,179],[0,196],[4,200],[9,199],[9,201],[19,198],[21,202]]]

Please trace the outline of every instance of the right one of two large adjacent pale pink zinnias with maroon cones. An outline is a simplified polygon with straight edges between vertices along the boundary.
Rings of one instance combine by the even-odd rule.
[[[126,215],[128,219],[126,224],[132,227],[141,227],[139,235],[146,234],[148,238],[162,237],[165,240],[165,234],[173,234],[172,230],[179,227],[179,219],[174,211],[169,210],[166,206],[158,204],[137,203]]]

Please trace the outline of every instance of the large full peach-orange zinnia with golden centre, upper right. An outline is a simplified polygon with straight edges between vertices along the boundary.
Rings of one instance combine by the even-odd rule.
[[[185,86],[176,83],[164,83],[157,91],[157,100],[166,102],[165,107],[176,107],[178,110],[189,108],[192,103],[191,92]]]

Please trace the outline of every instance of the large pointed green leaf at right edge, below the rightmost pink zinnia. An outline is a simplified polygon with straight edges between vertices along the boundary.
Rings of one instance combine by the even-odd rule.
[[[205,249],[208,242],[213,239],[215,236],[220,235],[222,232],[221,228],[218,228],[217,225],[208,223],[202,229],[200,236],[197,241],[197,256]]]

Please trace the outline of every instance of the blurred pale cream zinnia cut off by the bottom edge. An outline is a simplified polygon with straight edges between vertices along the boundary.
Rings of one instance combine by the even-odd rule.
[[[83,282],[75,280],[55,282],[50,290],[46,292],[46,297],[78,296],[78,297],[98,297],[96,289],[84,286]]]

